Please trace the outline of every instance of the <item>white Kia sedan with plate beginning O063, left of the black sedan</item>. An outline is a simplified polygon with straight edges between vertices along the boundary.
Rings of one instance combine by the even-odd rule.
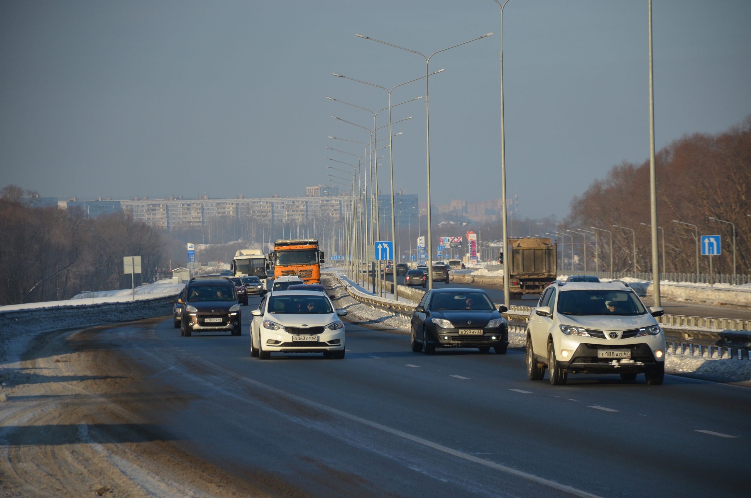
[[[279,353],[323,353],[344,357],[344,323],[328,296],[311,290],[274,290],[251,311],[250,356],[268,360]]]

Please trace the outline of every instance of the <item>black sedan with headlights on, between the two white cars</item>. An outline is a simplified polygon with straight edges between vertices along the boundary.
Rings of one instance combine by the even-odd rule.
[[[479,289],[433,289],[425,293],[412,314],[412,351],[436,348],[478,348],[505,354],[508,323],[490,297]]]

